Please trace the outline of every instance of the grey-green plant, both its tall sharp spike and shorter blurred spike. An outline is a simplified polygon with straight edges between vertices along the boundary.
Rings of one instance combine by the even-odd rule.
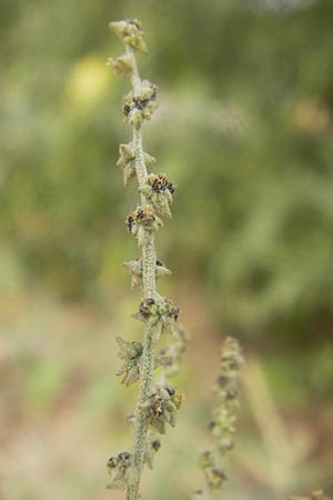
[[[133,424],[131,451],[111,457],[108,470],[111,482],[107,488],[125,490],[127,500],[140,497],[140,479],[144,464],[152,468],[153,458],[160,449],[159,434],[165,433],[167,424],[173,427],[175,413],[181,407],[182,396],[170,386],[169,377],[176,373],[178,363],[185,348],[186,334],[178,324],[179,309],[171,300],[157,291],[157,280],[170,274],[157,259],[155,232],[163,226],[161,218],[171,218],[172,198],[176,186],[165,173],[148,173],[147,167],[154,158],[143,151],[142,126],[157,109],[157,86],[141,80],[135,51],[147,52],[141,23],[138,20],[111,22],[110,29],[124,43],[124,54],[110,59],[109,64],[131,81],[131,91],[123,103],[123,121],[132,128],[132,140],[120,144],[118,166],[123,170],[124,186],[138,179],[140,204],[125,219],[129,232],[137,238],[141,256],[124,267],[130,272],[132,286],[143,291],[142,302],[134,318],[143,322],[143,341],[127,341],[117,338],[122,364],[118,371],[122,382],[129,386],[139,381],[135,413],[129,420]],[[168,342],[157,351],[161,334]],[[221,353],[220,376],[216,382],[218,402],[213,411],[210,429],[215,438],[212,450],[200,458],[206,480],[203,490],[194,496],[209,498],[210,492],[221,488],[226,479],[221,458],[233,447],[233,408],[238,404],[236,376],[243,358],[234,339],[224,341]],[[158,383],[153,380],[154,369],[160,367]]]

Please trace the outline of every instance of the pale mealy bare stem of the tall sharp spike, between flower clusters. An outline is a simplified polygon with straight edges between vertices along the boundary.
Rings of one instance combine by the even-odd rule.
[[[133,50],[127,47],[127,53],[131,58],[132,72],[131,84],[134,93],[140,93],[141,79],[138,71],[137,60]],[[135,171],[139,181],[139,187],[142,187],[147,179],[147,168],[144,163],[143,147],[142,147],[142,131],[141,127],[133,127],[133,147],[135,151]],[[144,206],[147,199],[141,193],[141,202]],[[154,298],[157,293],[155,282],[155,264],[157,253],[154,244],[154,233],[150,233],[145,243],[142,247],[142,261],[143,261],[143,296],[147,298]],[[147,401],[152,392],[152,380],[154,370],[154,331],[148,322],[144,323],[143,333],[143,352],[141,358],[141,370],[139,381],[139,397],[135,411],[135,424],[132,443],[132,467],[134,474],[129,481],[125,491],[127,500],[137,500],[139,497],[140,479],[143,469],[144,451],[147,443],[148,419],[140,411],[140,406]]]

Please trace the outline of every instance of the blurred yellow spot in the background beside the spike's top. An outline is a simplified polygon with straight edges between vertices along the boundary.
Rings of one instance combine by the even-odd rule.
[[[113,81],[105,61],[97,54],[80,59],[70,74],[67,96],[75,108],[89,108],[98,102]]]

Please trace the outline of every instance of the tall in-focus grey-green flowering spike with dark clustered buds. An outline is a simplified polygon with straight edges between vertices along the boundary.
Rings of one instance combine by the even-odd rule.
[[[139,182],[141,202],[127,217],[125,224],[138,239],[142,256],[124,262],[124,267],[131,274],[131,284],[140,286],[143,291],[135,318],[144,323],[144,336],[142,343],[117,338],[122,360],[117,373],[122,376],[125,386],[139,379],[140,383],[137,411],[131,418],[134,427],[131,453],[111,457],[108,469],[112,481],[108,488],[124,488],[127,500],[138,500],[143,467],[152,467],[153,457],[160,448],[160,441],[152,437],[149,427],[160,433],[165,432],[167,423],[173,427],[182,400],[167,384],[167,376],[171,374],[171,369],[175,369],[184,348],[175,326],[179,309],[157,292],[157,280],[171,271],[157,259],[154,243],[155,232],[163,226],[159,216],[171,217],[170,206],[175,186],[167,180],[165,174],[148,176],[147,171],[147,167],[154,163],[155,159],[143,151],[142,124],[144,120],[150,120],[158,108],[158,88],[139,76],[134,50],[147,52],[141,23],[135,19],[124,20],[111,22],[109,28],[125,44],[125,54],[110,59],[109,64],[118,73],[129,74],[131,81],[131,91],[124,98],[122,110],[123,121],[132,128],[132,140],[120,146],[117,164],[123,170],[125,187],[134,177]],[[155,352],[162,332],[172,333],[174,347],[165,347],[165,352]],[[154,392],[153,371],[157,367],[161,367],[163,383]]]

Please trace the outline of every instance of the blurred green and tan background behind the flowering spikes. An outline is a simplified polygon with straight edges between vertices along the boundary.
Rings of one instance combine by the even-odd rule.
[[[161,283],[192,341],[179,424],[144,498],[202,483],[219,344],[248,354],[224,498],[333,490],[332,0],[0,0],[0,499],[103,500],[129,448],[135,388],[115,336],[140,337],[135,204],[115,167],[128,81],[108,21],[139,18],[141,74],[160,87],[144,128],[178,184],[158,234]]]

